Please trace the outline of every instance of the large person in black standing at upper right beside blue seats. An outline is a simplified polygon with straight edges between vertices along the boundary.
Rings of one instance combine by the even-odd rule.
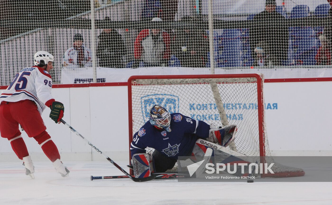
[[[249,30],[253,58],[258,44],[265,44],[265,60],[268,65],[282,65],[287,61],[288,28],[285,17],[276,11],[276,0],[266,0],[265,10],[255,15]],[[263,43],[262,43],[263,41]]]

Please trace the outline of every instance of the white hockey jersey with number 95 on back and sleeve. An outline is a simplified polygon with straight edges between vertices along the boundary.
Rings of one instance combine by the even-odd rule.
[[[42,113],[46,107],[45,103],[53,99],[51,89],[52,78],[46,70],[38,66],[24,68],[2,92],[0,103],[32,100],[37,104],[38,111]]]

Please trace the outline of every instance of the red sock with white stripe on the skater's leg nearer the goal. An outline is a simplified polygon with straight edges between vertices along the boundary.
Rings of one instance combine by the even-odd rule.
[[[43,131],[41,134],[34,137],[37,140],[38,144],[41,145],[42,151],[48,157],[51,162],[54,162],[57,159],[60,159],[60,154],[58,148],[51,140],[51,136],[46,131]]]

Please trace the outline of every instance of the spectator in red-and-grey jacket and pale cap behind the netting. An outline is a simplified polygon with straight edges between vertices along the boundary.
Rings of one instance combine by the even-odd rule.
[[[158,17],[153,22],[161,22]],[[133,68],[137,68],[140,61],[145,67],[165,66],[170,58],[170,36],[161,29],[144,29],[139,32],[134,42]]]

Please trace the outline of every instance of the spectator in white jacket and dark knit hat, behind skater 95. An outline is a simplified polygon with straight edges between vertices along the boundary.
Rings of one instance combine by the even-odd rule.
[[[73,38],[73,47],[66,50],[63,55],[64,67],[91,67],[92,53],[89,48],[83,45],[82,34],[75,34]]]

